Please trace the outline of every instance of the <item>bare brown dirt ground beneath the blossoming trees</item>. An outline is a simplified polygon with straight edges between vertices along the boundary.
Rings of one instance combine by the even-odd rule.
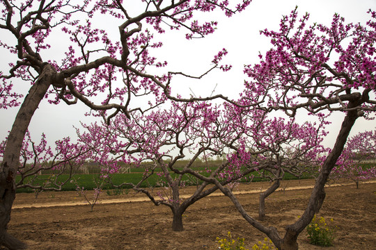
[[[334,247],[308,244],[306,232],[299,235],[299,249],[376,249],[376,181],[357,190],[349,182],[326,188],[327,198],[319,216],[333,218]],[[250,215],[257,217],[258,192],[268,183],[241,185],[237,194]],[[265,224],[279,232],[304,211],[313,180],[283,181],[280,190],[266,201]],[[195,187],[183,190],[191,194]],[[289,190],[292,189],[292,190]],[[154,206],[143,194],[107,195],[103,192],[93,212],[77,192],[17,194],[9,233],[29,244],[29,249],[218,249],[216,238],[245,238],[251,249],[265,236],[248,224],[228,197],[216,193],[190,206],[183,218],[185,230],[171,230],[172,213]],[[1,249],[1,247],[0,247]]]

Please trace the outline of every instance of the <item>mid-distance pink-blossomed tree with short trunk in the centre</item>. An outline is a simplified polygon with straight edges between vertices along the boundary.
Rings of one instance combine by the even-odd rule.
[[[173,231],[182,231],[182,215],[191,204],[206,197],[218,188],[209,187],[207,182],[198,183],[195,176],[190,174],[175,174],[173,169],[178,169],[179,161],[189,153],[191,160],[182,167],[190,168],[195,161],[224,153],[224,146],[220,140],[230,134],[225,133],[224,127],[217,126],[220,111],[207,103],[171,103],[168,110],[151,111],[148,114],[132,114],[132,119],[125,119],[122,115],[115,117],[111,124],[102,123],[102,126],[92,124],[86,126],[85,133],[79,133],[81,142],[97,151],[97,155],[109,162],[121,160],[124,163],[143,164],[146,171],[143,178],[136,185],[122,183],[113,185],[115,188],[130,186],[137,192],[143,192],[155,206],[168,206],[173,213]],[[220,131],[220,132],[219,132]],[[213,136],[214,133],[217,135]],[[211,138],[210,140],[207,140]],[[111,155],[113,158],[111,159]],[[203,171],[212,178],[224,176],[222,172],[228,167],[224,162],[217,169],[207,166]],[[159,172],[155,173],[159,170]],[[254,170],[253,170],[254,171]],[[117,165],[104,169],[107,173],[116,173]],[[250,171],[251,172],[251,171]],[[243,176],[249,174],[244,172]],[[106,174],[107,176],[107,174]],[[148,179],[159,178],[159,186],[166,188],[166,192],[157,194],[147,188],[141,188]],[[111,176],[108,181],[111,183]],[[234,178],[221,178],[224,185],[237,180]],[[180,189],[186,185],[197,185],[194,194],[188,198],[180,196]]]

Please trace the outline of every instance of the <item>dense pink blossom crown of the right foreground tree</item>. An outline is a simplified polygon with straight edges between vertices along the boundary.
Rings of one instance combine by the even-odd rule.
[[[346,111],[354,105],[366,113],[374,110],[368,94],[376,91],[375,12],[369,14],[368,27],[345,24],[337,14],[330,26],[307,27],[309,14],[299,19],[296,8],[281,19],[279,31],[261,31],[273,48],[260,55],[260,63],[244,67],[250,78],[244,102],[263,101],[290,116],[298,108],[315,114]],[[355,104],[359,90],[367,98]]]

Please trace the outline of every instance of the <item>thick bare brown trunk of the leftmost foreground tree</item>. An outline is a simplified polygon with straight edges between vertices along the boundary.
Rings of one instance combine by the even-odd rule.
[[[26,95],[19,108],[12,130],[8,135],[3,163],[0,167],[0,244],[8,249],[26,249],[26,244],[6,232],[15,200],[15,174],[19,167],[19,154],[24,135],[55,74],[56,71],[52,66],[45,66],[38,81],[30,88],[29,94]]]

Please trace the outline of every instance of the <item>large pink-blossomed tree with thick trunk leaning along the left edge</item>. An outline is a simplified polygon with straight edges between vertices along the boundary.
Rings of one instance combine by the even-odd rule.
[[[163,72],[166,62],[152,56],[162,42],[154,40],[151,30],[185,29],[189,40],[203,38],[214,32],[217,22],[198,22],[193,19],[197,12],[219,10],[231,16],[249,3],[244,0],[232,7],[228,1],[145,0],[134,9],[132,3],[122,0],[1,0],[0,46],[9,60],[8,68],[0,72],[0,107],[19,106],[19,110],[0,167],[0,244],[9,249],[26,247],[6,228],[15,199],[22,142],[42,99],[54,104],[84,103],[107,121],[118,113],[130,118],[134,110],[154,108],[167,98],[195,101],[171,95],[170,84],[176,74]],[[108,25],[100,28],[104,19]],[[219,65],[223,54],[220,51],[208,71],[228,70]],[[148,74],[151,69],[160,70],[159,74]],[[15,83],[28,86],[24,99],[13,90]],[[142,105],[132,101],[140,96],[148,101]],[[208,99],[218,97],[223,96]]]

